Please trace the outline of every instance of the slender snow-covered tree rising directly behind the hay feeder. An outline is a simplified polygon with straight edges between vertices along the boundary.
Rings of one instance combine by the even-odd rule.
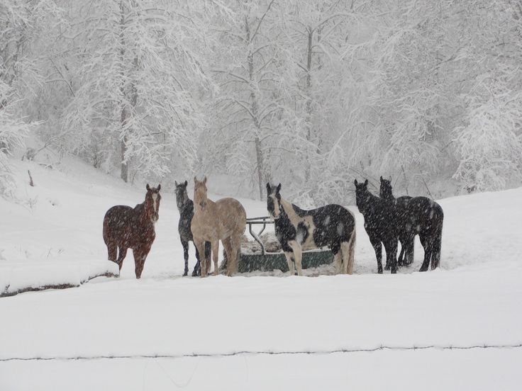
[[[211,111],[218,122],[211,132],[211,159],[225,160],[226,170],[254,176],[259,196],[272,178],[272,167],[298,124],[287,104],[292,97],[289,58],[282,50],[277,2],[231,1],[235,12],[215,26],[220,45],[213,67],[218,94]],[[223,51],[226,47],[226,51]],[[216,142],[217,141],[217,142]]]

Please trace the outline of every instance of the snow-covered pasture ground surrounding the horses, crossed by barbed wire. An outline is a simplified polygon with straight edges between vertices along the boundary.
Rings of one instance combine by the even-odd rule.
[[[145,188],[74,161],[13,171],[20,201],[0,200],[0,292],[79,288],[0,298],[1,391],[520,387],[522,188],[440,200],[437,271],[416,272],[417,243],[411,268],[377,275],[356,213],[353,276],[203,280],[181,277],[176,204],[163,193],[142,279],[129,253],[120,278],[87,283],[114,271],[104,213],[142,202]],[[266,214],[265,203],[241,201],[248,216]]]

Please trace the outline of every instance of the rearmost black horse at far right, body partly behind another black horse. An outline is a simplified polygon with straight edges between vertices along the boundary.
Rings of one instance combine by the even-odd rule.
[[[421,239],[424,260],[419,271],[427,271],[440,264],[444,212],[438,203],[427,197],[409,199],[394,198],[391,181],[381,178],[381,196],[387,200],[389,208],[396,209],[401,244],[405,243],[406,263],[413,262],[413,239],[416,234]],[[402,251],[401,251],[402,252]]]

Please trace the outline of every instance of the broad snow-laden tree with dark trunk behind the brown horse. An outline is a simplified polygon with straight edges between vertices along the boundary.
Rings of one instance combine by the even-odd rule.
[[[97,0],[80,6],[70,32],[77,65],[62,127],[70,145],[140,174],[191,167],[204,122],[204,9],[191,1]],[[98,155],[102,156],[99,157]]]

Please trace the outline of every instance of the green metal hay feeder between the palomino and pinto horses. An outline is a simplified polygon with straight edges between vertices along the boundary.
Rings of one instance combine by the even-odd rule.
[[[241,256],[238,264],[238,271],[240,273],[247,273],[250,271],[274,271],[280,270],[288,271],[287,259],[282,252],[268,252],[265,250],[265,245],[260,239],[260,234],[265,231],[268,224],[274,224],[270,217],[252,217],[247,219],[248,231],[261,246],[259,253],[245,254],[241,251]],[[259,232],[255,232],[252,227],[255,225],[262,226]],[[316,268],[317,266],[325,265],[333,262],[333,254],[329,249],[317,249],[311,251],[303,251],[301,265],[303,268]]]

